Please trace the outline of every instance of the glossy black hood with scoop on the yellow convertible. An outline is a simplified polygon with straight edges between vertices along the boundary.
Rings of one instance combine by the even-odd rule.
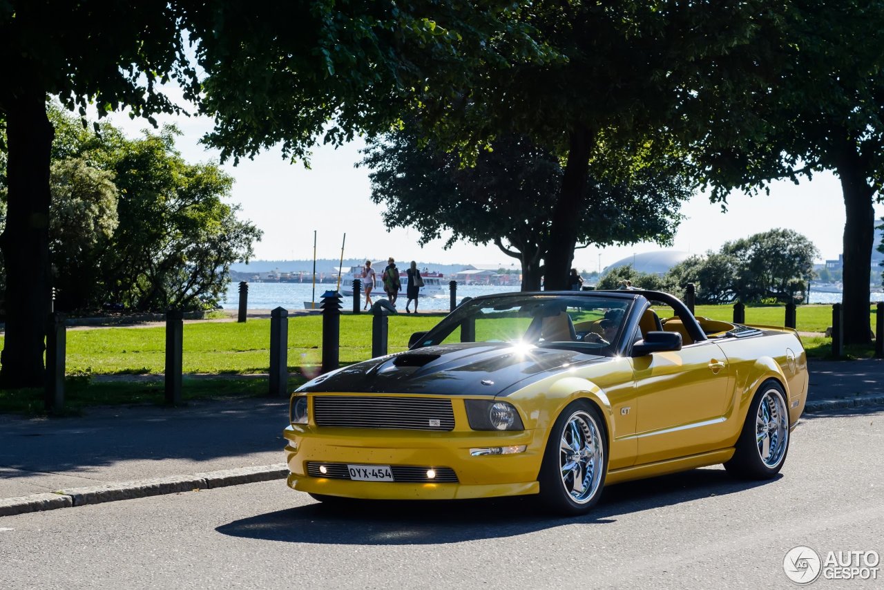
[[[507,395],[565,366],[606,360],[575,350],[522,352],[502,342],[444,344],[352,364],[317,377],[298,391]]]

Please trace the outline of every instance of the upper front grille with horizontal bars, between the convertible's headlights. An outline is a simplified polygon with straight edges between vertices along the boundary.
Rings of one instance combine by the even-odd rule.
[[[317,395],[313,419],[319,426],[454,430],[451,400],[431,397]]]

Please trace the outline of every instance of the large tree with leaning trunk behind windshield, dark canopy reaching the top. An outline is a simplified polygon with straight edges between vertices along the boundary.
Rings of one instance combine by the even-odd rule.
[[[472,73],[469,87],[431,107],[446,116],[434,129],[453,146],[522,134],[565,159],[546,263],[548,285],[565,287],[577,212],[600,199],[587,190],[588,179],[617,178],[622,153],[643,161],[685,157],[673,137],[697,134],[705,119],[683,105],[708,82],[727,112],[728,79],[757,61],[751,49],[739,59],[730,54],[754,47],[756,20],[768,12],[758,2],[532,3],[517,16],[555,56]]]

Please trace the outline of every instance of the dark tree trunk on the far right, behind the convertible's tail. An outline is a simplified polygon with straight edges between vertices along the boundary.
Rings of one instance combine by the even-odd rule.
[[[844,343],[869,344],[869,280],[875,234],[874,191],[856,155],[838,165],[847,219],[844,223]]]

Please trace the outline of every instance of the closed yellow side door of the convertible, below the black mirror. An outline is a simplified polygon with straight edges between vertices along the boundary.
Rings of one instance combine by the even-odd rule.
[[[731,370],[717,344],[701,341],[631,361],[636,383],[636,465],[720,448]]]

